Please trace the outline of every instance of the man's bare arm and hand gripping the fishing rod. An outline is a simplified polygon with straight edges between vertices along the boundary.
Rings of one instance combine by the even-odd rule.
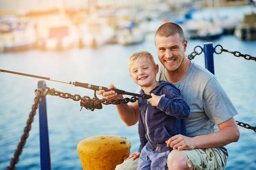
[[[109,85],[108,89],[116,88],[114,85]],[[123,95],[117,94],[115,91],[105,92],[104,90],[100,90],[97,94],[101,94],[103,98],[108,100],[116,100],[116,99],[124,99]],[[117,112],[120,118],[124,121],[127,126],[132,126],[136,124],[139,120],[139,104],[130,103],[128,104],[119,104],[116,105]]]

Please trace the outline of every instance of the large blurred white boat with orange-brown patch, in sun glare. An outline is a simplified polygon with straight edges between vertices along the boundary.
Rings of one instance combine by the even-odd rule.
[[[79,47],[78,29],[65,15],[45,15],[37,19],[37,47],[42,50],[67,50]]]

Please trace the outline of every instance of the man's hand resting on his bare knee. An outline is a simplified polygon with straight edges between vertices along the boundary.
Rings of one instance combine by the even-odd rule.
[[[193,150],[195,149],[193,137],[187,137],[184,135],[175,135],[165,141],[167,147],[172,147],[177,150]]]

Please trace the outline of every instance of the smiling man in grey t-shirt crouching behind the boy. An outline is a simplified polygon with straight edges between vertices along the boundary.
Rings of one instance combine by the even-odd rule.
[[[224,169],[228,158],[225,145],[237,142],[240,137],[233,118],[237,114],[234,105],[213,74],[185,57],[187,40],[180,26],[175,23],[160,26],[155,34],[155,46],[161,62],[157,81],[173,83],[191,108],[190,116],[185,120],[187,136],[175,135],[166,142],[166,146],[173,148],[167,159],[168,169]],[[114,85],[108,88],[114,88]],[[106,99],[123,98],[113,91],[99,91],[98,94]],[[138,103],[116,107],[126,125],[137,123]],[[139,154],[132,156],[117,169],[135,170],[135,158]]]

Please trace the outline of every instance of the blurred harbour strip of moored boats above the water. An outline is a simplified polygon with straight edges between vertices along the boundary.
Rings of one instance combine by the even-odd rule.
[[[249,4],[250,16],[220,9]],[[165,22],[180,24],[187,39],[234,34],[251,40],[254,5],[253,0],[1,0],[0,51],[127,46],[141,43]]]

